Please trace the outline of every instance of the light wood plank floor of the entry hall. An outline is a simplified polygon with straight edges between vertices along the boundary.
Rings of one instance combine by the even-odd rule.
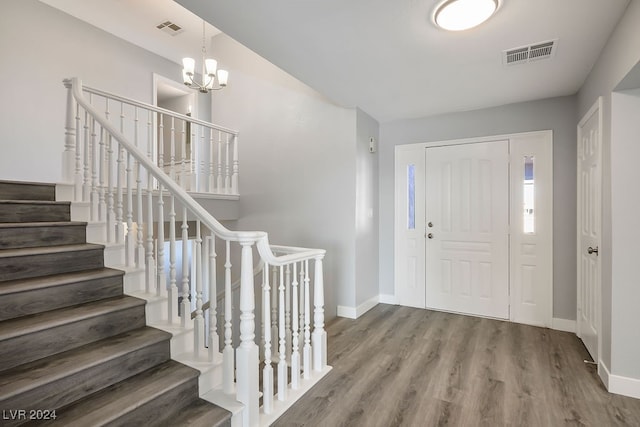
[[[327,333],[333,370],[275,426],[640,426],[574,334],[382,304]]]

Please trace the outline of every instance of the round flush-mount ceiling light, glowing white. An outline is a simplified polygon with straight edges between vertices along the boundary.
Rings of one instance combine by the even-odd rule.
[[[436,25],[448,31],[462,31],[482,24],[498,9],[498,0],[447,0],[434,12]]]

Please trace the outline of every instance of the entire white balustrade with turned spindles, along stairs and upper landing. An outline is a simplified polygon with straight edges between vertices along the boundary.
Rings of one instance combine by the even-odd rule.
[[[258,425],[261,417],[273,414],[284,405],[281,402],[294,396],[293,390],[300,389],[306,379],[328,368],[325,251],[271,246],[264,232],[231,231],[186,191],[180,177],[188,177],[187,188],[195,185],[237,194],[237,138],[233,131],[83,88],[76,78],[64,84],[68,96],[63,179],[73,184],[74,200],[90,206],[92,221],[106,224],[106,242],[124,246],[124,263],[144,271],[144,292],[164,298],[163,324],[193,330],[193,345],[182,351],[221,365],[220,387],[244,405],[243,425]],[[98,97],[102,103],[96,102]],[[133,111],[129,116],[132,122],[126,120],[127,108]],[[161,167],[167,164],[163,149],[158,150],[157,159],[153,153],[157,113],[166,114],[171,122],[168,169]],[[186,145],[186,131],[178,133],[176,121],[186,119],[191,126],[204,129],[191,131],[199,135],[192,140],[194,144],[217,141],[218,150],[210,150],[205,157],[213,158],[206,173],[195,173],[195,178],[194,170],[187,166],[202,164],[203,157],[194,155],[189,163],[186,156],[174,155],[176,144],[182,145],[181,149]],[[166,123],[160,121],[158,129]],[[187,155],[195,151],[183,150]],[[213,151],[215,156],[211,157]],[[188,248],[193,248],[191,253]],[[254,252],[262,266],[258,286],[254,283]],[[234,277],[240,279],[239,301],[228,297]],[[223,289],[227,296],[224,322],[217,324],[216,296]],[[258,328],[256,308],[261,320]]]

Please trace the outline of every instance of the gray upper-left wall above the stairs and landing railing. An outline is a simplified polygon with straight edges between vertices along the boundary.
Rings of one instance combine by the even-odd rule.
[[[178,64],[36,0],[3,0],[0,53],[2,179],[60,180],[64,78],[145,102],[153,72],[181,78]]]

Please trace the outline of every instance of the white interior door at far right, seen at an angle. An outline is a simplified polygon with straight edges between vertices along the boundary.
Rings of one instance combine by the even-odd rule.
[[[602,99],[578,124],[578,337],[598,361]]]

